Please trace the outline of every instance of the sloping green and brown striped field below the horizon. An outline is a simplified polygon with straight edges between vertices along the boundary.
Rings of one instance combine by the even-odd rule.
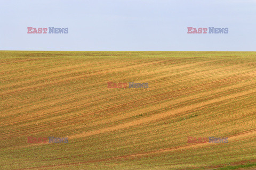
[[[255,105],[255,52],[0,51],[0,169],[256,169]]]

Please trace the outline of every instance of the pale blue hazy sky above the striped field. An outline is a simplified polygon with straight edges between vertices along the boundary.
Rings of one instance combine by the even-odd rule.
[[[0,50],[256,51],[256,0],[0,0],[0,22]]]

